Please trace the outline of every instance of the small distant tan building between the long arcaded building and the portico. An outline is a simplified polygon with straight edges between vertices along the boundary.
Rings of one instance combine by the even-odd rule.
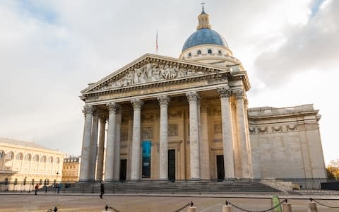
[[[79,181],[80,161],[81,158],[75,156],[69,156],[64,159],[61,179],[63,183],[73,183]]]

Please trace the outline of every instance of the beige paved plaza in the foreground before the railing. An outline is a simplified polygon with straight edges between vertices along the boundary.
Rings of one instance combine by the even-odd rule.
[[[177,211],[182,206],[193,201],[197,211],[221,212],[225,200],[241,208],[252,211],[263,211],[271,207],[270,196],[239,196],[233,194],[208,194],[204,196],[148,196],[107,194],[100,199],[99,194],[0,194],[0,211],[48,211],[57,206],[58,211],[105,211],[109,205],[121,212],[152,212],[152,211]],[[307,211],[307,199],[292,199],[286,196],[292,204],[292,211]],[[293,198],[307,198],[306,196],[293,196]],[[339,206],[338,196],[314,197],[322,204]],[[317,205],[319,212],[339,211],[338,208],[327,208]],[[112,210],[111,210],[112,211]],[[187,211],[183,209],[182,211]],[[232,208],[232,211],[240,211]]]

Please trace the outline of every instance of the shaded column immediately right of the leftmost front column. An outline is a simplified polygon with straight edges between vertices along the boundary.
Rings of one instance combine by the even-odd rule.
[[[95,112],[93,114],[92,135],[90,138],[90,180],[95,180],[98,125],[99,125],[99,114]]]

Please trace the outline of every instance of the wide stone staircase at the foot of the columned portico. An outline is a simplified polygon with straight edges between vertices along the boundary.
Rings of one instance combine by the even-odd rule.
[[[78,182],[63,192],[100,193],[99,182]],[[106,182],[105,193],[177,194],[177,193],[282,193],[282,191],[251,179],[222,182]]]

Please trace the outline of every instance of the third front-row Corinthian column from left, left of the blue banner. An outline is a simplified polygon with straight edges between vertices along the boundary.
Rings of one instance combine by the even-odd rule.
[[[133,138],[131,155],[131,180],[140,179],[140,151],[141,151],[141,106],[142,100],[131,100],[133,105]]]

